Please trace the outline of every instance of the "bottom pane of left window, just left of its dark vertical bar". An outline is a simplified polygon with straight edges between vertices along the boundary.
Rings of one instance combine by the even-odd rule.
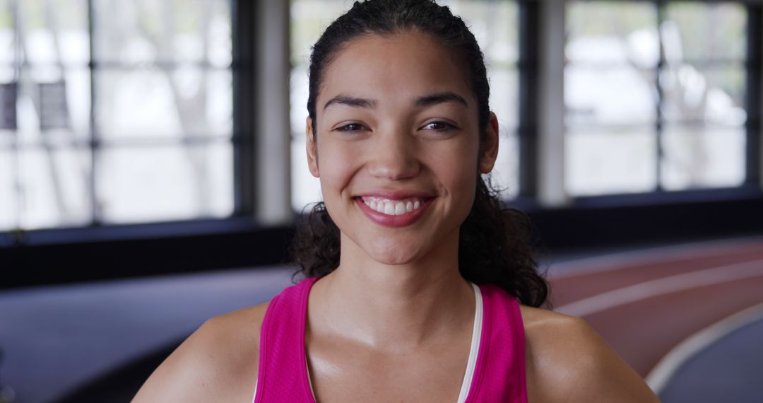
[[[89,223],[89,150],[23,148],[18,151],[18,168],[11,172],[16,172],[21,186],[16,192],[16,211],[22,228],[73,227]]]

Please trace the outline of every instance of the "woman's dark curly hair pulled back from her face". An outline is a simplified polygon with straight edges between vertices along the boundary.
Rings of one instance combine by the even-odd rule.
[[[342,46],[367,34],[391,35],[417,30],[460,53],[477,98],[479,130],[486,133],[490,85],[477,40],[461,18],[431,0],[368,0],[333,21],[317,40],[310,58],[307,113],[317,127],[315,102],[323,70]],[[315,131],[314,131],[315,135]],[[317,140],[317,139],[316,139]],[[501,201],[482,176],[478,176],[472,211],[459,230],[459,271],[475,284],[493,284],[538,307],[546,302],[549,285],[537,271],[530,245],[530,220],[517,209],[501,208]],[[326,276],[340,263],[340,231],[323,202],[298,226],[292,253],[307,277]]]

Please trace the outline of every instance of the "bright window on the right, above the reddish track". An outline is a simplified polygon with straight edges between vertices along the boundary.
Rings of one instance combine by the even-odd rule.
[[[744,5],[570,2],[566,11],[570,195],[745,182]]]

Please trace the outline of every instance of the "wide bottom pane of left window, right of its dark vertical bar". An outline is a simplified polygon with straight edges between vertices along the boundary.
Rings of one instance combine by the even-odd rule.
[[[105,222],[225,217],[233,213],[230,142],[108,147],[95,173]]]

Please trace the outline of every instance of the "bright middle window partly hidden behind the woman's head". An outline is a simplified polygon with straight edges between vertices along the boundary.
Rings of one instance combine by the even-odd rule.
[[[461,16],[485,53],[491,83],[490,107],[498,117],[501,147],[491,177],[504,198],[519,186],[519,11],[517,2],[489,0],[440,1]],[[312,45],[334,19],[353,5],[343,0],[291,1],[291,200],[295,211],[319,202],[320,182],[307,170],[305,118],[307,69]]]

